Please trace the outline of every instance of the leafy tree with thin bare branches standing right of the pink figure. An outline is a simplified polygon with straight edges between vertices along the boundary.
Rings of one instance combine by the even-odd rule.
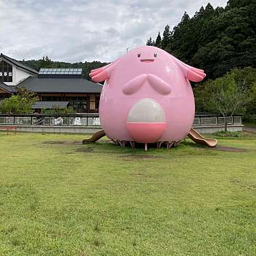
[[[222,114],[225,120],[225,131],[227,131],[227,116],[244,114],[246,107],[252,101],[246,77],[238,80],[235,72],[209,80],[205,85],[205,96],[207,96],[207,100],[204,101],[205,108],[209,112]]]

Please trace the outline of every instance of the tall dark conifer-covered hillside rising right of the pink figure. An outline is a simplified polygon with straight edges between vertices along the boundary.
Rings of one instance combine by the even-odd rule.
[[[256,1],[229,0],[225,8],[210,3],[147,45],[162,48],[183,62],[203,68],[207,77],[221,77],[231,68],[256,67]]]

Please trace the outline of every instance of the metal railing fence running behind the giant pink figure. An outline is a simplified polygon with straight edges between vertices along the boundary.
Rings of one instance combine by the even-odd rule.
[[[227,117],[228,125],[241,125],[241,116]],[[100,126],[99,114],[0,114],[0,125]],[[225,125],[225,118],[212,114],[196,114],[194,127]]]

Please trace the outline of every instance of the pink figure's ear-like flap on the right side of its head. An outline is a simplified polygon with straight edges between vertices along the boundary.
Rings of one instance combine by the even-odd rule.
[[[205,71],[203,71],[202,69],[189,66],[184,62],[181,62],[181,60],[178,60],[176,57],[172,56],[172,58],[173,60],[175,60],[179,68],[181,68],[181,71],[183,72],[185,77],[188,78],[188,80],[199,82],[203,81],[203,79],[206,77]]]

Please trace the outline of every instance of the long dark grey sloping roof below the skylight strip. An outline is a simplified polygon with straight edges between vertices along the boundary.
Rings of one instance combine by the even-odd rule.
[[[84,78],[38,78],[28,77],[18,87],[33,92],[101,93],[102,85]]]

